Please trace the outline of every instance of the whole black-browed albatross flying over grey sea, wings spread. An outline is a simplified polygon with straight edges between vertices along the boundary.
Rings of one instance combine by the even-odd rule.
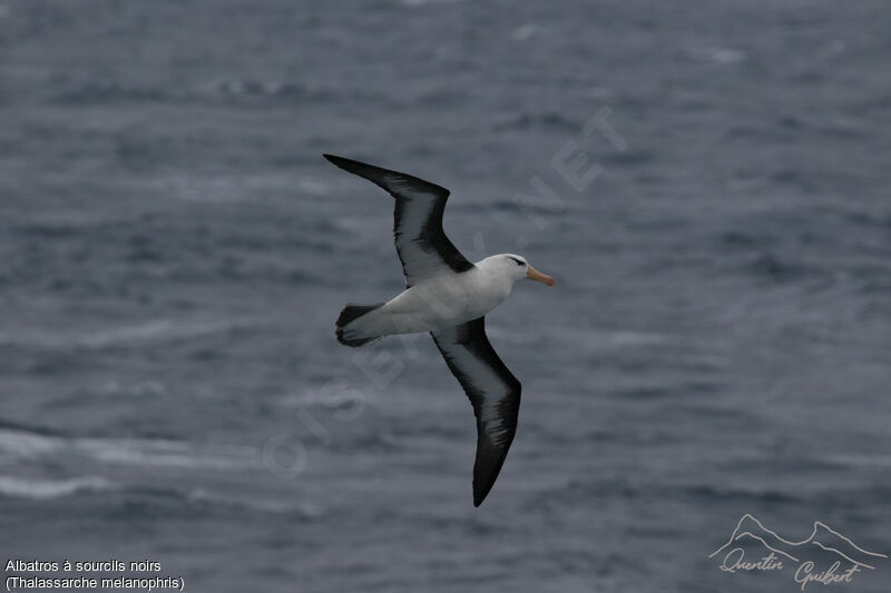
[[[517,432],[520,382],[486,337],[486,314],[522,279],[554,286],[554,278],[518,255],[468,261],[442,230],[444,187],[358,160],[323,155],[395,198],[393,239],[405,290],[386,303],[347,304],[335,323],[337,342],[368,346],[396,334],[429,332],[449,370],[473,405],[477,456],[473,506],[492,488]]]

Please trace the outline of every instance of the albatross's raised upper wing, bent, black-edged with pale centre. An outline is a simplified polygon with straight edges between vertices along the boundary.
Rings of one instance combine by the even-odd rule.
[[[405,286],[473,267],[442,230],[442,211],[449,190],[404,172],[391,171],[358,160],[323,155],[345,171],[364,177],[396,199],[393,239],[396,244]]]

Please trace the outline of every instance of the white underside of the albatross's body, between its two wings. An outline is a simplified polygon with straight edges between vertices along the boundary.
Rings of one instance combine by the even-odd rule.
[[[474,267],[419,283],[344,328],[347,339],[435,332],[481,317],[505,302],[513,280]]]

